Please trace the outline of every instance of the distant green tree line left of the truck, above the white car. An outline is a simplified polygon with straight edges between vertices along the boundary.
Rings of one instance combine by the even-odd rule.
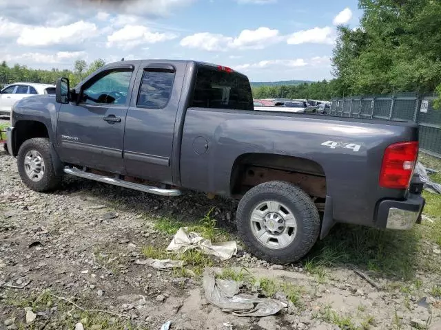
[[[19,81],[27,83],[55,84],[60,77],[66,77],[70,80],[73,87],[83,78],[105,65],[105,62],[99,58],[90,64],[83,60],[77,60],[74,63],[74,70],[59,70],[52,68],[50,70],[32,69],[26,65],[15,64],[8,66],[6,61],[0,64],[0,85],[8,85]]]

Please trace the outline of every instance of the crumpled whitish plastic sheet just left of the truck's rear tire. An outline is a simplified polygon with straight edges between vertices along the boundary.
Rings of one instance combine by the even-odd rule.
[[[187,233],[183,227],[179,228],[167,247],[167,251],[178,253],[192,249],[199,249],[205,254],[212,254],[218,257],[220,261],[228,260],[237,253],[237,245],[234,241],[212,243],[209,239],[196,234],[196,232]]]

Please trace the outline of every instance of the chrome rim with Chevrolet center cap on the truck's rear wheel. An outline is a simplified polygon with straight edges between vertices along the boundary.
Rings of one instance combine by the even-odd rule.
[[[297,234],[296,217],[278,201],[258,203],[252,211],[250,225],[258,242],[270,249],[286,248]]]

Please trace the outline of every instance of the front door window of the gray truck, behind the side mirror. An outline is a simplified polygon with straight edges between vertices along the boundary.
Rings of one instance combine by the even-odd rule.
[[[132,70],[116,69],[85,85],[82,102],[90,104],[125,104]]]

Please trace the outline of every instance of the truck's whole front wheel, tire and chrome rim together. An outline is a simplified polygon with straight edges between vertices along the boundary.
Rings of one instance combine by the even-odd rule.
[[[50,156],[50,142],[46,138],[34,138],[21,144],[17,155],[17,167],[21,181],[35,191],[50,191],[61,183],[55,174]]]

